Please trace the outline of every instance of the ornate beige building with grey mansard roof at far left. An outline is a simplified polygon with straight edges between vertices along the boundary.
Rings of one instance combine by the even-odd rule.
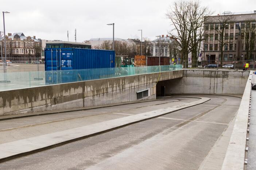
[[[5,35],[7,60],[10,61],[36,61],[37,57],[41,57],[40,40],[35,36],[25,36],[20,33],[8,33]],[[4,36],[1,37],[4,55]]]

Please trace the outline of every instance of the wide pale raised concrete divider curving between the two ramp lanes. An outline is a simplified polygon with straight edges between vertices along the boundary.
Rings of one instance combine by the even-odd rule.
[[[199,105],[210,100],[210,98],[206,97],[200,98],[201,99],[198,101],[172,106],[170,108],[154,110],[151,112],[140,113],[92,125],[82,126],[79,128],[3,143],[0,144],[0,162],[35,153],[41,150],[49,149],[51,147],[63,145],[65,143],[73,142],[100,133],[105,133],[107,131],[135,124],[137,122],[163,116],[165,114],[169,114],[185,108],[190,108],[192,106]]]

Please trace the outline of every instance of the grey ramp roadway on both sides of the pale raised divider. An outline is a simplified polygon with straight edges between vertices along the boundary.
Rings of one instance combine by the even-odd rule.
[[[196,95],[194,95],[196,96]],[[218,146],[240,98],[198,95],[210,101],[35,154],[0,163],[0,169],[220,169]],[[10,142],[157,110],[197,98],[170,98],[78,112],[1,121],[0,142]],[[226,134],[227,136],[229,134]],[[228,144],[228,139],[224,141]],[[222,154],[212,152],[218,150]],[[217,148],[217,149],[216,149]],[[209,163],[211,162],[211,163]]]

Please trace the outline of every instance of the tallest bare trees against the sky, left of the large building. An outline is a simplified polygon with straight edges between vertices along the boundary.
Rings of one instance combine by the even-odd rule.
[[[167,13],[174,27],[169,34],[181,48],[182,60],[187,60],[189,52],[197,58],[198,48],[203,41],[203,23],[211,15],[207,7],[201,7],[199,1],[175,1]]]

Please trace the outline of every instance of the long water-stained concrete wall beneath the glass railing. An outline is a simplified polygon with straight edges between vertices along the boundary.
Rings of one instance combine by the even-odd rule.
[[[183,70],[163,72],[159,81],[180,78]],[[159,73],[82,81],[0,92],[0,116],[117,104],[137,100],[136,92],[150,89],[156,98]]]

